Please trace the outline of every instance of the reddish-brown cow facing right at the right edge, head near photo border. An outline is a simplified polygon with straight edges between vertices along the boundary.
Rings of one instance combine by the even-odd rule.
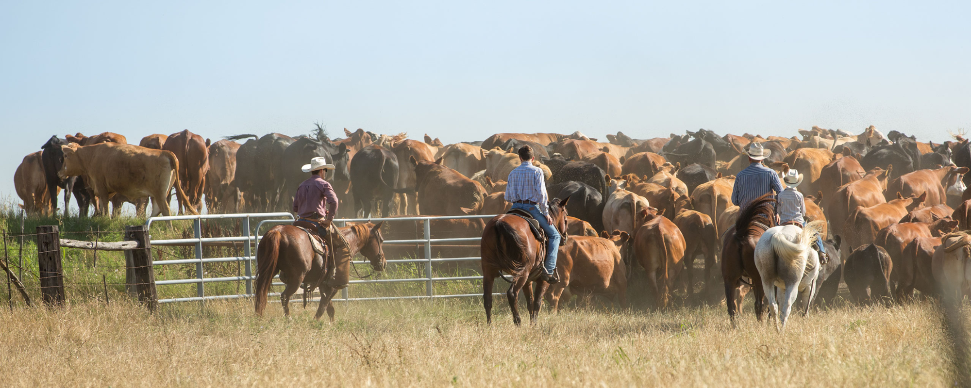
[[[948,195],[954,196],[954,202],[964,193],[964,182],[961,178],[967,174],[967,167],[948,166],[936,170],[918,170],[907,173],[887,183],[884,196],[887,201],[893,199],[895,192],[907,196],[911,194],[927,193],[925,206],[948,203]],[[956,205],[956,204],[954,204]]]

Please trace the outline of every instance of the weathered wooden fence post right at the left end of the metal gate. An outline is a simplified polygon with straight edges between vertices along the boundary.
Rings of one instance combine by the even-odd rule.
[[[138,301],[154,311],[158,307],[158,294],[155,292],[155,271],[151,268],[151,240],[149,228],[145,225],[126,226],[124,240],[138,242],[138,247],[124,251],[127,273],[127,286],[138,295]],[[127,277],[127,276],[126,276]]]

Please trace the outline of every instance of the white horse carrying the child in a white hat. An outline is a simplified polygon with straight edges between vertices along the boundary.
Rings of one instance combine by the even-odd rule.
[[[755,268],[762,276],[769,314],[780,331],[786,329],[786,320],[799,292],[803,293],[802,302],[806,307],[803,315],[809,313],[810,303],[816,298],[820,256],[810,247],[819,238],[824,225],[825,221],[813,221],[805,229],[792,225],[776,226],[765,231],[755,244]],[[784,295],[777,295],[779,291]],[[779,299],[782,299],[782,308],[776,302]]]

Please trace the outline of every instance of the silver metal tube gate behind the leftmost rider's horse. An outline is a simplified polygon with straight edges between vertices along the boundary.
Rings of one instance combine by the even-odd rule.
[[[423,245],[423,257],[416,259],[393,259],[387,260],[388,264],[396,263],[422,263],[424,264],[424,276],[423,277],[410,277],[410,278],[378,278],[378,279],[362,279],[362,280],[351,280],[351,284],[381,284],[381,283],[402,283],[402,282],[423,282],[425,283],[425,293],[424,295],[415,296],[386,296],[386,297],[367,297],[367,298],[352,298],[349,295],[349,289],[345,288],[342,290],[341,298],[334,298],[335,301],[371,301],[371,300],[390,300],[390,299],[436,299],[436,298],[460,298],[460,297],[478,297],[481,293],[477,294],[436,294],[435,293],[435,282],[440,281],[453,281],[453,280],[477,280],[482,279],[482,275],[475,276],[441,276],[436,277],[432,271],[432,265],[434,263],[444,263],[444,262],[460,262],[460,261],[479,261],[481,257],[451,257],[451,258],[433,258],[432,257],[432,245],[435,243],[446,243],[446,242],[478,242],[482,240],[480,237],[471,238],[451,238],[451,239],[432,239],[431,238],[431,222],[432,220],[438,219],[476,219],[476,218],[491,218],[495,215],[460,215],[460,216],[414,216],[414,217],[389,217],[389,218],[339,218],[335,219],[334,222],[339,226],[346,225],[347,222],[398,222],[398,221],[425,221],[423,222],[423,236],[420,239],[410,239],[410,240],[385,240],[385,244],[404,244],[404,243],[415,243]],[[240,230],[242,236],[234,237],[213,237],[213,238],[203,238],[202,237],[202,222],[208,219],[241,219]],[[254,219],[259,219],[259,222],[251,229],[251,222]],[[158,216],[151,217],[146,221],[146,226],[149,228],[149,233],[151,237],[151,224],[158,221],[175,221],[175,220],[192,220],[192,231],[193,237],[191,239],[151,239],[152,245],[181,245],[185,246],[191,244],[194,246],[195,258],[193,259],[177,259],[177,260],[158,260],[153,262],[154,267],[158,266],[170,266],[170,265],[183,265],[183,264],[195,264],[195,276],[190,278],[182,279],[165,279],[165,280],[155,280],[156,286],[171,285],[171,284],[195,284],[196,285],[196,296],[195,297],[185,297],[185,298],[170,298],[161,299],[159,303],[174,303],[174,302],[200,302],[200,301],[211,301],[219,299],[237,299],[237,298],[250,298],[253,296],[252,292],[252,280],[256,278],[253,274],[253,263],[256,260],[255,248],[258,246],[259,240],[262,236],[262,229],[264,225],[275,225],[281,223],[293,222],[293,215],[288,212],[265,212],[265,213],[238,213],[238,214],[202,214],[202,215],[173,215],[173,216]],[[213,257],[205,258],[203,257],[203,245],[207,242],[243,242],[244,254],[243,256],[234,257]],[[254,246],[251,246],[254,245]],[[478,249],[476,249],[478,251]],[[203,264],[205,263],[221,263],[221,262],[243,262],[245,266],[245,275],[241,276],[221,276],[221,277],[205,277],[205,271],[203,269]],[[352,261],[352,264],[367,264],[366,261]],[[278,276],[279,277],[279,276]],[[207,295],[206,287],[207,283],[216,282],[226,282],[226,281],[245,281],[246,292],[243,294],[230,294],[230,295]],[[275,282],[274,285],[283,285],[283,283]],[[159,292],[161,293],[161,292]],[[271,294],[279,295],[279,294]],[[291,302],[296,302],[296,299],[291,300]]]

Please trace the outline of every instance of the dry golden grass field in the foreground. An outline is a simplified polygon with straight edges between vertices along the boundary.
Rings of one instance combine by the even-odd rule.
[[[163,306],[126,301],[0,309],[0,386],[945,386],[937,309],[836,307],[787,333],[751,307],[732,329],[722,307],[665,312],[572,309],[517,328],[508,307],[485,325],[478,299]],[[313,307],[316,307],[313,306]]]

